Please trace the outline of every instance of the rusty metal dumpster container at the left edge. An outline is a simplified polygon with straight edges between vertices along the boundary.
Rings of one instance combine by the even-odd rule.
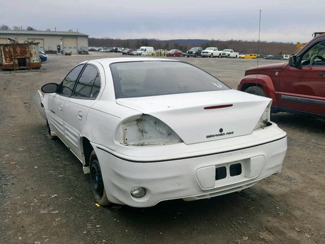
[[[0,69],[40,69],[39,42],[18,43],[9,39],[9,44],[0,44]]]

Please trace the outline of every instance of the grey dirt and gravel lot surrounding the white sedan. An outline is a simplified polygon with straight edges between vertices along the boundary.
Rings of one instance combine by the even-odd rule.
[[[41,71],[0,72],[0,243],[325,243],[325,121],[288,113],[272,115],[288,135],[282,172],[252,188],[150,208],[96,206],[89,175],[62,142],[47,138],[32,97],[83,60],[111,56],[122,55],[49,55]],[[179,59],[233,88],[256,65]]]

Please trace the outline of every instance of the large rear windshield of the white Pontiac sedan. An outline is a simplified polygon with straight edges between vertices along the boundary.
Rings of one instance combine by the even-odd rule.
[[[125,62],[110,68],[116,99],[230,89],[205,71],[182,62]]]

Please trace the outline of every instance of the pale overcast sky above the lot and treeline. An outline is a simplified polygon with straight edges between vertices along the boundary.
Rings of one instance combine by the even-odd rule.
[[[306,42],[325,32],[325,0],[0,0],[0,24],[89,37]]]

